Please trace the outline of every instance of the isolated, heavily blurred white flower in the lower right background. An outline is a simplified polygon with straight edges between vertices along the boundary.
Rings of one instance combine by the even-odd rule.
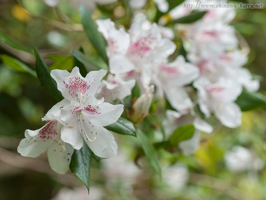
[[[256,157],[249,149],[242,146],[234,146],[225,154],[226,167],[231,171],[261,170],[263,161]]]

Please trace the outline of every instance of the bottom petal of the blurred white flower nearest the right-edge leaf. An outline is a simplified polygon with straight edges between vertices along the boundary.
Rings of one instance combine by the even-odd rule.
[[[229,128],[236,128],[242,124],[242,112],[234,102],[221,105],[214,110],[214,114],[223,125]]]

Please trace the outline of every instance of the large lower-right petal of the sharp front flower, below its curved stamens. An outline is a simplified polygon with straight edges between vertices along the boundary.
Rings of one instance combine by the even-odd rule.
[[[89,131],[89,130],[88,130]],[[117,154],[117,143],[109,130],[103,127],[94,127],[97,135],[95,141],[86,141],[93,153],[101,158],[111,158]]]

